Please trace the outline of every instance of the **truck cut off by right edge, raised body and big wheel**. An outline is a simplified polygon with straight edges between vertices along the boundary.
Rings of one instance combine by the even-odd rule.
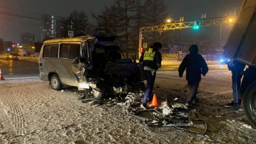
[[[243,0],[239,15],[224,46],[223,55],[230,60],[244,63],[240,97],[244,113],[256,127],[256,0]]]

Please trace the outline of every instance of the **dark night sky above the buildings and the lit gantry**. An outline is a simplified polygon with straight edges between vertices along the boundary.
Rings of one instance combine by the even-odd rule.
[[[100,13],[105,5],[114,0],[1,0],[0,1],[0,38],[4,41],[19,42],[20,33],[33,33],[35,40],[40,35],[40,20],[15,17],[3,13],[39,17],[40,14],[68,16],[72,11],[83,10],[89,17],[91,13]],[[143,1],[143,0],[141,0]],[[207,18],[222,17],[234,14],[241,0],[164,0],[170,17],[179,20],[195,20],[201,18],[201,13],[207,13]],[[31,13],[33,12],[33,13]],[[94,20],[90,19],[90,22]]]

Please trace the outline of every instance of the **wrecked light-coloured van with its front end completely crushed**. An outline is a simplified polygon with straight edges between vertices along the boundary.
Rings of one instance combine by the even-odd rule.
[[[63,85],[92,90],[95,99],[144,86],[138,63],[124,58],[116,36],[98,28],[93,36],[46,40],[38,60],[40,78],[52,90]]]

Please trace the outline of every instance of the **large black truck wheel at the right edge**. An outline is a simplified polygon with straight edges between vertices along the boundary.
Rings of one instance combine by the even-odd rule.
[[[256,81],[250,84],[244,92],[244,112],[253,127],[256,127]]]

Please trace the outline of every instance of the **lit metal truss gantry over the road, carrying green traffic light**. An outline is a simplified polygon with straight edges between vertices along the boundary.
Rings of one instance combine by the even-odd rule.
[[[170,24],[159,24],[155,26],[142,26],[140,27],[140,36],[139,36],[139,39],[140,39],[139,40],[139,58],[141,56],[142,33],[150,32],[150,31],[167,31],[167,30],[175,30],[175,29],[193,28],[193,26],[195,26],[196,23],[198,23],[200,27],[222,26],[222,25],[234,24],[235,21],[236,21],[236,17],[216,17],[212,19],[173,22]]]

